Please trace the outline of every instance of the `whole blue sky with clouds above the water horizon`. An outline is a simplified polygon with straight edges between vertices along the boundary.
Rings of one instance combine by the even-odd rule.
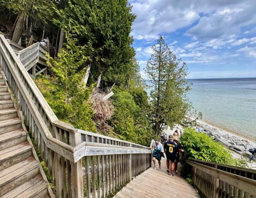
[[[256,77],[255,0],[129,0],[131,35],[144,78],[151,47],[163,36],[188,78]]]

